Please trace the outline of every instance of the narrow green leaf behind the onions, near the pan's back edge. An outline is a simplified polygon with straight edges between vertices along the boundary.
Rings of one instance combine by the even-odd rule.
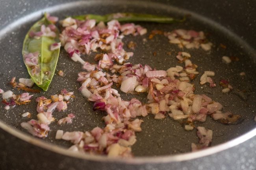
[[[86,15],[78,15],[72,16],[72,18],[77,20],[88,20],[95,19],[96,22],[108,22],[110,20],[118,20],[119,22],[158,22],[158,23],[173,23],[173,22],[184,22],[186,18],[184,17],[181,20],[167,17],[167,16],[158,16],[158,15],[150,15],[150,14],[139,14],[139,13],[111,13],[106,15],[94,15],[94,14],[86,14]]]

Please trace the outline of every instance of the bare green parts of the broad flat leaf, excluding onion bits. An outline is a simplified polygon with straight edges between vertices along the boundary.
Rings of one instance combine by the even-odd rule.
[[[59,58],[60,48],[50,51],[50,46],[59,42],[59,31],[56,28],[56,38],[46,37],[44,35],[42,37],[32,38],[29,36],[29,33],[30,31],[38,32],[41,30],[42,25],[47,27],[50,24],[53,23],[48,21],[46,16],[36,22],[26,34],[22,49],[23,58],[25,54],[39,52],[38,66],[40,71],[38,74],[32,74],[33,67],[26,65],[26,63],[25,65],[31,79],[35,82],[35,84],[37,84],[37,86],[45,91],[48,90],[50,82],[52,81]]]

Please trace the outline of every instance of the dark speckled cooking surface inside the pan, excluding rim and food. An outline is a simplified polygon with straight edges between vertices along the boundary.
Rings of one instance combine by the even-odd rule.
[[[82,15],[85,13],[106,14],[115,12],[137,12],[137,13],[152,13],[158,15],[174,16],[182,18],[185,14],[191,14],[186,22],[174,24],[152,24],[138,23],[148,29],[148,33],[143,36],[128,36],[124,38],[124,43],[134,41],[137,44],[133,51],[134,57],[130,58],[131,63],[148,64],[152,68],[166,70],[170,67],[181,65],[176,60],[176,55],[179,51],[186,51],[191,54],[191,61],[198,65],[200,75],[206,70],[215,71],[215,80],[217,87],[210,88],[208,85],[199,85],[200,75],[197,76],[195,83],[196,94],[206,94],[213,101],[218,101],[223,104],[223,111],[230,111],[234,114],[242,116],[243,121],[237,125],[223,125],[213,121],[210,117],[206,122],[198,122],[196,126],[204,126],[213,130],[213,141],[211,146],[224,143],[240,135],[249,132],[255,128],[255,84],[256,84],[256,64],[255,53],[247,44],[236,37],[232,32],[219,26],[218,24],[206,20],[203,16],[198,16],[189,11],[184,11],[172,6],[156,4],[153,2],[115,2],[109,1],[89,1],[89,2],[72,2],[56,7],[46,8],[37,13],[34,13],[34,18],[31,16],[27,19],[21,18],[19,23],[6,31],[5,34],[0,34],[0,50],[2,52],[2,61],[0,62],[1,77],[0,88],[3,90],[12,90],[15,94],[21,93],[11,88],[8,84],[12,77],[29,78],[27,70],[22,60],[22,42],[26,32],[38,20],[43,12],[48,11],[52,15],[56,15],[63,19],[67,15]],[[178,46],[170,44],[168,39],[163,35],[157,35],[152,40],[148,39],[148,35],[152,30],[172,31],[174,29],[193,29],[196,31],[204,31],[207,34],[210,42],[213,43],[213,48],[210,52],[202,49],[180,49]],[[143,39],[147,39],[143,41]],[[226,49],[220,47],[224,44]],[[156,56],[153,55],[156,53]],[[95,53],[89,56],[83,56],[84,60],[94,62]],[[234,56],[239,58],[239,61],[234,61],[230,64],[225,64],[222,61],[223,56]],[[104,127],[101,120],[104,116],[103,112],[93,112],[92,103],[88,102],[82,94],[78,92],[80,84],[76,82],[77,73],[82,71],[79,63],[74,63],[68,57],[64,49],[61,49],[59,62],[56,68],[56,73],[62,70],[65,77],[60,77],[58,74],[54,76],[50,88],[47,92],[35,94],[33,99],[44,95],[50,97],[59,93],[63,88],[68,91],[74,91],[76,98],[68,104],[68,109],[65,112],[54,112],[54,117],[59,120],[65,117],[68,113],[74,113],[76,118],[72,124],[57,125],[56,122],[50,124],[51,131],[49,136],[43,139],[47,143],[54,143],[60,146],[69,147],[71,144],[68,141],[56,140],[55,134],[58,129],[66,131],[89,131],[94,127]],[[239,73],[245,72],[245,76],[240,76]],[[231,93],[223,94],[222,87],[218,85],[219,80],[226,79],[233,86],[234,90]],[[126,95],[121,93],[123,99],[132,99],[133,97],[146,102],[145,95]],[[3,104],[0,105],[0,119],[6,124],[13,126],[23,132],[26,130],[20,127],[20,123],[28,121],[27,118],[22,118],[21,114],[25,112],[32,113],[32,119],[36,119],[36,102],[28,105],[16,106],[9,111],[4,110]],[[191,143],[197,143],[198,138],[196,130],[186,131],[179,122],[166,117],[163,120],[155,120],[152,115],[148,115],[143,119],[141,125],[142,132],[136,133],[137,142],[132,147],[132,152],[135,156],[156,156],[156,155],[172,155],[178,153],[186,153],[191,150]]]

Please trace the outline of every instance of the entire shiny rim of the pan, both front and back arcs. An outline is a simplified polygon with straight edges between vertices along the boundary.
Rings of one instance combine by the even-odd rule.
[[[80,2],[80,1],[78,1],[78,2]],[[110,0],[110,1],[106,1],[106,2],[112,2],[112,1]],[[121,2],[124,3],[123,1],[121,1]],[[135,1],[135,2],[142,2],[142,1]],[[92,1],[90,1],[90,3],[92,3]],[[98,1],[97,0],[93,1],[93,3],[98,3]],[[69,5],[69,4],[74,4],[74,2],[65,3],[62,5],[64,7],[64,5]],[[161,3],[151,2],[150,4],[151,5],[156,5],[156,4],[159,5]],[[17,21],[13,22],[12,24],[9,24],[6,27],[2,28],[0,30],[0,37],[2,37],[3,33],[7,32],[7,30],[9,30],[10,28],[17,26],[21,22],[22,23],[26,22],[26,20],[28,20],[27,18],[30,18],[33,20],[33,19],[37,18],[37,16],[41,16],[43,11],[48,11],[48,12],[54,11],[54,9],[56,9],[57,6],[59,7],[59,5],[55,5],[50,8],[42,9],[35,13],[31,13],[27,16],[23,16],[22,18],[19,18]],[[171,7],[171,5],[170,6],[168,5],[167,7]],[[59,9],[61,9],[61,7],[59,7]],[[182,9],[182,11],[186,11],[186,10]],[[187,13],[193,14],[193,16],[195,16],[195,18],[198,18],[198,16],[199,16],[198,14],[192,13],[191,11],[187,11]],[[202,16],[200,16],[200,18],[202,18]],[[215,23],[213,21],[209,21],[207,18],[203,18],[203,19],[204,19],[204,22]],[[218,24],[218,23],[215,23],[215,24]],[[226,30],[226,28],[223,26],[220,26],[220,28]],[[225,32],[225,31],[223,31],[223,32]],[[228,31],[228,33],[232,33],[232,32]],[[234,34],[234,33],[232,33],[232,34]],[[234,35],[232,35],[232,36],[234,36]],[[250,48],[249,44],[247,44],[241,38],[237,37],[237,35],[234,36],[234,39],[236,39],[238,42],[243,42],[243,45],[245,47],[248,47],[248,49],[250,49],[250,51],[254,51],[253,48]],[[252,137],[256,136],[256,128],[254,128],[254,129],[250,130],[249,132],[246,132],[243,135],[236,137],[235,139],[227,141],[226,143],[218,144],[216,146],[212,146],[210,148],[207,148],[205,150],[200,150],[197,152],[189,152],[189,153],[185,153],[185,154],[176,154],[176,155],[156,156],[156,157],[134,157],[132,159],[122,159],[122,158],[109,158],[109,157],[106,157],[103,155],[89,155],[89,154],[72,152],[72,151],[69,151],[61,146],[56,145],[56,144],[46,143],[45,141],[42,141],[41,139],[37,139],[36,137],[33,137],[27,133],[24,133],[16,128],[8,126],[2,120],[0,120],[0,128],[2,128],[6,132],[10,133],[11,135],[13,135],[23,141],[26,141],[35,146],[39,146],[40,148],[43,148],[46,150],[56,152],[58,154],[75,157],[75,158],[79,158],[79,159],[86,159],[86,160],[90,160],[90,161],[118,162],[118,163],[127,163],[127,164],[167,163],[167,162],[171,163],[171,162],[178,162],[178,161],[193,160],[193,159],[208,156],[211,154],[216,154],[218,152],[227,150],[229,148],[237,146],[237,145],[251,139]]]

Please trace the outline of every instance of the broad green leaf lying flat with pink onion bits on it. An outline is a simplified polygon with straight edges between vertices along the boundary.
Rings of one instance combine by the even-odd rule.
[[[46,27],[46,33],[40,35],[42,33],[41,26],[43,25]],[[47,35],[49,29],[55,33],[55,37]],[[45,91],[48,90],[54,76],[59,58],[60,47],[57,42],[59,42],[59,31],[47,19],[46,14],[30,28],[23,42],[22,55],[28,73],[35,84]],[[52,44],[56,45],[57,48],[51,51],[50,47]]]

